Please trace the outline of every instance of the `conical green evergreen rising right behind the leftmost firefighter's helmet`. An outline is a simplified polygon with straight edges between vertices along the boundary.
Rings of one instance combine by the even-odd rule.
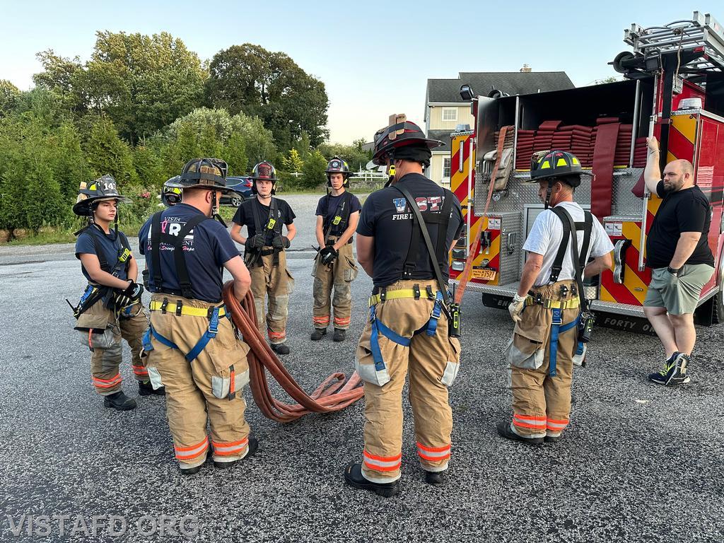
[[[111,174],[120,187],[138,182],[130,147],[119,138],[110,119],[101,117],[93,123],[85,143],[85,156],[93,177]]]

